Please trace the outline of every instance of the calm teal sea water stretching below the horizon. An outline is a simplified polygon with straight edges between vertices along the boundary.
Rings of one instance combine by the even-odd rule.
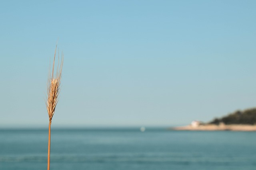
[[[0,130],[0,170],[46,170],[48,130]],[[256,133],[54,129],[51,170],[255,170]]]

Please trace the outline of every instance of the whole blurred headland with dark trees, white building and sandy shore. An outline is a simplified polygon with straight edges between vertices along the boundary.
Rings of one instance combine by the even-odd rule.
[[[178,131],[256,131],[256,108],[238,110],[208,123],[192,121],[190,125],[171,129]]]

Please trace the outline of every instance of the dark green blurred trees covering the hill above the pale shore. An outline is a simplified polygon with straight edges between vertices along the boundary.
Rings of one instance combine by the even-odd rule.
[[[256,124],[256,108],[247,109],[244,111],[236,111],[222,118],[216,118],[211,121],[209,124],[225,123],[226,125],[230,124]]]

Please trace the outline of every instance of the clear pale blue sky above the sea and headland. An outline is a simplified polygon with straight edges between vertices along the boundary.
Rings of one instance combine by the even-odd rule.
[[[256,107],[255,0],[3,1],[0,127],[169,126]]]

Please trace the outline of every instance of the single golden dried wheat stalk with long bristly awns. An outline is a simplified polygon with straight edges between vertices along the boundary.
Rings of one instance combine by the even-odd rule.
[[[53,59],[53,66],[52,66],[52,74],[49,71],[48,75],[48,84],[47,84],[47,100],[46,100],[46,108],[49,115],[49,138],[48,138],[48,164],[47,170],[50,170],[50,145],[51,145],[51,124],[52,124],[52,117],[54,115],[54,111],[56,105],[58,103],[58,97],[60,94],[60,80],[62,77],[62,66],[63,66],[63,58],[64,55],[61,53],[61,61],[58,54],[58,66],[56,73],[54,74],[54,63],[55,63],[55,56],[56,56],[57,45],[54,53]]]

